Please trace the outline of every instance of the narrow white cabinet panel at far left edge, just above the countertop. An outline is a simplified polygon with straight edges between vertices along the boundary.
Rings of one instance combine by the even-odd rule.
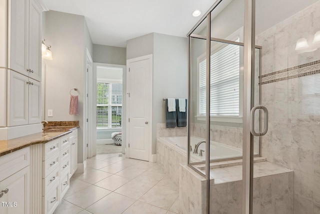
[[[0,68],[0,127],[6,125],[6,70]]]

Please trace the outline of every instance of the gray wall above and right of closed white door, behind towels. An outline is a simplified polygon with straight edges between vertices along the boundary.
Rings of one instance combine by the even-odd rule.
[[[156,153],[156,124],[165,123],[162,98],[187,97],[187,39],[147,34],[128,40],[126,58],[153,55],[152,153]]]

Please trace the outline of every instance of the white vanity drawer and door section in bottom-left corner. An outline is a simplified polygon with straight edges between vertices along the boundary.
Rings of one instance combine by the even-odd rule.
[[[29,213],[30,149],[0,157],[0,213]]]

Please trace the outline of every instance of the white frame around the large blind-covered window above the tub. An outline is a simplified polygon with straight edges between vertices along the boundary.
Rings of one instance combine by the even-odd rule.
[[[235,41],[237,38],[239,38],[239,41],[243,41],[243,27],[239,28],[235,32],[233,32],[231,35],[226,37],[224,40],[228,41]],[[220,46],[220,47],[219,47]],[[240,46],[241,47],[241,46]],[[211,46],[210,50],[210,56],[214,53],[222,50],[223,44],[216,44],[214,46]],[[203,53],[197,58],[197,105],[196,105],[196,112],[197,115],[195,116],[196,120],[198,121],[205,121],[205,114],[200,114],[200,88],[199,88],[199,74],[200,74],[200,62],[206,59],[206,53]],[[240,49],[239,53],[239,68],[243,68],[243,51]],[[222,115],[210,115],[210,121],[212,122],[226,122],[226,123],[242,123],[242,112],[243,112],[243,91],[241,90],[243,88],[243,69],[239,69],[239,115],[238,116],[222,116]]]

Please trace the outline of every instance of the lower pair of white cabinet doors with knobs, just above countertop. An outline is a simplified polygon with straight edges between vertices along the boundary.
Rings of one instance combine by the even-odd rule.
[[[41,83],[8,70],[7,126],[41,122]]]

